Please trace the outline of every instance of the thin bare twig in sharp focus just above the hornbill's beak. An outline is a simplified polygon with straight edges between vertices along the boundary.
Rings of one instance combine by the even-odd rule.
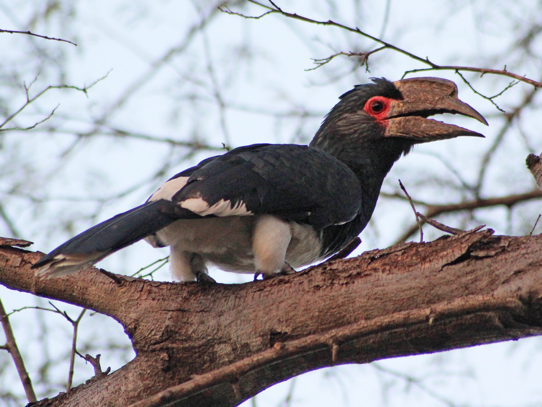
[[[372,41],[375,41],[375,42],[378,42],[379,44],[382,44],[383,47],[380,48],[379,50],[391,49],[391,50],[394,50],[395,52],[406,55],[409,58],[414,59],[415,61],[421,62],[424,65],[429,65],[429,68],[411,69],[410,71],[406,71],[404,73],[404,75],[403,75],[403,78],[405,77],[405,75],[407,75],[409,73],[423,72],[423,71],[458,71],[458,72],[459,71],[466,71],[466,72],[478,72],[478,73],[481,73],[481,74],[502,75],[502,76],[505,76],[505,77],[508,77],[508,78],[513,78],[514,80],[519,80],[521,82],[525,82],[526,84],[532,85],[535,88],[542,87],[542,82],[535,81],[534,79],[529,79],[529,78],[526,78],[524,76],[521,76],[521,75],[518,75],[518,74],[515,74],[515,73],[512,73],[512,72],[508,72],[506,70],[506,66],[505,66],[504,69],[488,69],[488,68],[476,68],[476,67],[469,67],[469,66],[438,65],[438,64],[436,64],[434,62],[431,62],[429,60],[429,58],[427,58],[427,57],[422,58],[421,56],[412,54],[412,53],[408,52],[405,49],[396,47],[395,45],[393,45],[393,44],[391,44],[389,42],[383,41],[383,40],[381,40],[381,39],[379,39],[379,38],[377,38],[375,36],[367,34],[364,31],[360,30],[358,27],[356,27],[356,28],[348,27],[348,26],[345,26],[344,24],[339,24],[339,23],[336,23],[336,22],[334,22],[332,20],[327,20],[327,21],[313,20],[312,18],[308,18],[308,17],[300,16],[299,14],[284,11],[280,7],[278,7],[278,5],[273,3],[272,1],[269,1],[269,3],[271,3],[273,7],[269,7],[268,5],[259,3],[259,2],[255,1],[255,0],[248,0],[248,1],[250,3],[259,5],[260,7],[263,7],[265,9],[269,10],[268,12],[263,14],[261,17],[263,17],[265,15],[277,13],[277,14],[280,14],[282,16],[285,16],[285,17],[288,17],[288,18],[294,18],[295,20],[300,20],[300,21],[304,21],[304,22],[307,22],[307,23],[318,24],[320,26],[332,26],[332,27],[341,28],[341,29],[344,29],[346,31],[350,31],[351,33],[362,35],[362,36],[364,36],[364,37],[366,37],[366,38],[368,38],[368,39],[370,39]],[[238,13],[230,13],[230,14],[239,15]],[[242,17],[247,17],[247,16],[242,16]]]

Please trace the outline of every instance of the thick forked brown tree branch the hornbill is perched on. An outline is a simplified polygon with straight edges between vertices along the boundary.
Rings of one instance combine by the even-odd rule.
[[[0,283],[109,315],[137,356],[36,406],[235,406],[315,368],[542,333],[542,236],[464,232],[246,284],[96,269],[38,280],[0,246]],[[6,244],[4,242],[4,244]]]

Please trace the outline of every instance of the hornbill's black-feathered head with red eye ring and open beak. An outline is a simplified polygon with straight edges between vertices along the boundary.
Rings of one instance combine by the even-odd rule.
[[[457,98],[454,82],[441,78],[372,81],[357,85],[340,97],[314,136],[313,147],[347,163],[373,151],[380,156],[389,155],[392,164],[414,144],[457,136],[483,137],[460,126],[428,119],[453,113],[487,125],[480,113]]]

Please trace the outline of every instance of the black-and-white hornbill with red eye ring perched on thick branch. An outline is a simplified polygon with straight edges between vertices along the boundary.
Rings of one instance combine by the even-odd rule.
[[[414,144],[480,133],[428,116],[486,120],[440,78],[373,79],[340,97],[311,144],[253,144],[210,157],[166,181],[143,205],[43,256],[36,275],[58,277],[145,239],[171,246],[171,271],[212,280],[227,271],[289,274],[358,236],[385,175]]]

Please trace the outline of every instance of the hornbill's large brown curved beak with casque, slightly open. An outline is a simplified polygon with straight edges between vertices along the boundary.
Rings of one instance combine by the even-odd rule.
[[[480,113],[457,98],[454,82],[441,78],[411,78],[393,84],[401,92],[403,100],[394,100],[390,105],[385,137],[408,138],[415,143],[458,136],[484,137],[478,132],[427,118],[452,113],[472,117],[487,126]]]

